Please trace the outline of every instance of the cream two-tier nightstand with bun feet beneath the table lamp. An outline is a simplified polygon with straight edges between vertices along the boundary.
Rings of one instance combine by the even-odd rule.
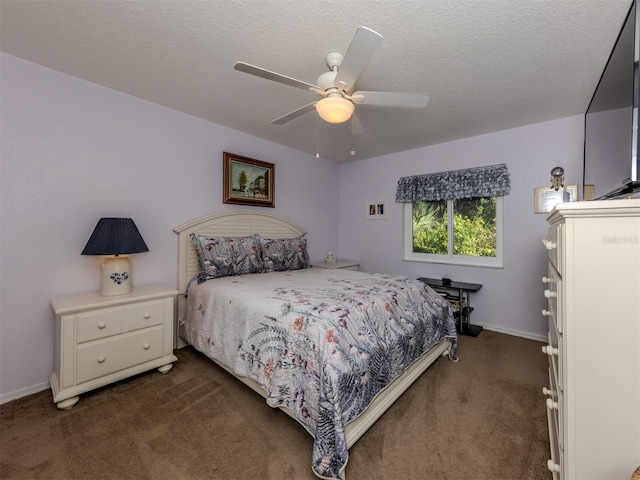
[[[81,393],[173,362],[177,290],[155,285],[105,297],[97,293],[54,298],[53,401],[68,410]]]

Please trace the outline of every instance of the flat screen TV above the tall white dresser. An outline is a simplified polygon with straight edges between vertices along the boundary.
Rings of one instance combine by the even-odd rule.
[[[585,115],[583,187],[593,185],[596,199],[619,198],[640,189],[639,37],[634,1]]]

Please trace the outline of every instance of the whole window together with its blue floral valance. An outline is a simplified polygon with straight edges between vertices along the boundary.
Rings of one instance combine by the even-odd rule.
[[[502,268],[506,164],[398,180],[404,203],[404,260]]]

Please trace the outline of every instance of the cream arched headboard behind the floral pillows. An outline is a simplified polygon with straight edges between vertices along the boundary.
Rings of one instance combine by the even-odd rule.
[[[306,230],[295,222],[273,213],[252,210],[232,210],[196,218],[173,229],[178,238],[178,325],[186,313],[184,291],[189,281],[198,275],[198,257],[189,235],[199,233],[210,237],[244,237],[259,234],[266,238],[293,238]]]

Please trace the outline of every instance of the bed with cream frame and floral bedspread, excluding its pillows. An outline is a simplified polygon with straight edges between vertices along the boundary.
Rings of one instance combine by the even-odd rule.
[[[194,236],[256,242],[266,266],[265,242],[305,239],[281,216],[233,210],[174,231],[185,293],[178,347],[193,345],[298,421],[314,438],[320,478],[344,479],[348,450],[367,429],[439,357],[456,361],[449,304],[414,279],[317,267],[206,279]]]

